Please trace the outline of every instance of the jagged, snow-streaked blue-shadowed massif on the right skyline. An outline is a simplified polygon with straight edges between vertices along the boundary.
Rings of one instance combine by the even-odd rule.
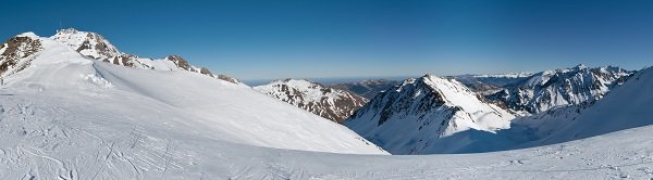
[[[510,85],[488,99],[518,114],[538,114],[550,108],[603,98],[632,72],[604,66],[545,70]]]

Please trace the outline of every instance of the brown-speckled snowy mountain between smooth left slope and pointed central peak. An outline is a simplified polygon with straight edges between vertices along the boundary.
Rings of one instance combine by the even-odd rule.
[[[276,80],[254,89],[336,123],[344,121],[367,102],[352,92],[308,80]]]

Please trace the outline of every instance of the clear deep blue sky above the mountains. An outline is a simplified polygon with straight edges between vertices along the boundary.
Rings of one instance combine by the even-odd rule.
[[[0,36],[97,31],[242,79],[485,74],[653,65],[653,1],[30,0]]]

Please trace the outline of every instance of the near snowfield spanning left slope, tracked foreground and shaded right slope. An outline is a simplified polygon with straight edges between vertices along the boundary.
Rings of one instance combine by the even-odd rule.
[[[569,126],[609,121],[580,132],[611,133],[504,152],[389,156],[343,126],[250,88],[112,65],[39,40],[44,50],[29,67],[0,88],[0,179],[653,178],[645,111],[653,69]]]

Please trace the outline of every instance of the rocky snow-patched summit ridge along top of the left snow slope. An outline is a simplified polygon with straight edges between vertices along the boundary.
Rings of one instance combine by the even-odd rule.
[[[227,80],[237,85],[244,85],[235,78],[225,75],[214,75],[208,68],[193,66],[180,55],[169,55],[162,60],[155,60],[121,52],[103,36],[96,33],[79,31],[70,28],[58,30],[50,39],[67,44],[73,50],[76,50],[88,57],[115,65],[157,70],[186,70]],[[220,76],[227,78],[219,78]]]

